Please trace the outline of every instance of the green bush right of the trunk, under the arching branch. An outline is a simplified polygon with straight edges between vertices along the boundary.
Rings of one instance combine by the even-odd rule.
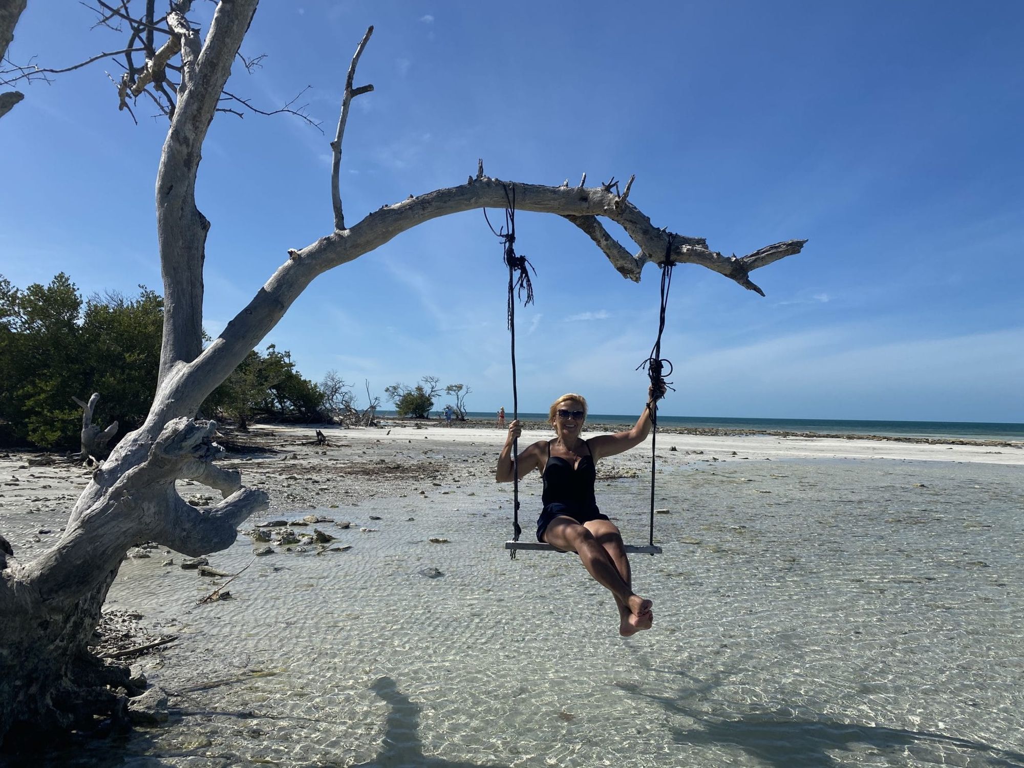
[[[204,413],[238,422],[243,430],[255,419],[328,421],[324,392],[295,370],[291,352],[270,344],[266,354],[251,351],[203,403]]]

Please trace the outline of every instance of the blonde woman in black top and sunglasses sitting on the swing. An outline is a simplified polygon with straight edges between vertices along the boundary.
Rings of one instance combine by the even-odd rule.
[[[544,480],[544,509],[537,521],[537,541],[580,555],[587,571],[614,595],[618,634],[623,637],[649,630],[654,614],[651,601],[633,591],[630,561],[618,528],[597,508],[596,464],[598,459],[629,451],[646,439],[651,429],[652,403],[664,394],[664,388],[655,392],[651,386],[647,390],[647,406],[632,429],[587,440],[581,435],[587,400],[579,394],[563,394],[548,412],[555,438],[539,440],[518,457],[520,478],[537,469]],[[512,444],[521,434],[518,420],[509,424],[495,472],[498,482],[512,481]]]

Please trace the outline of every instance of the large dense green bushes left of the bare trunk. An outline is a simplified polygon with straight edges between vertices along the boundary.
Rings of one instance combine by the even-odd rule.
[[[82,411],[73,397],[99,392],[93,422],[138,426],[153,401],[163,299],[140,287],[82,301],[65,273],[24,291],[0,278],[0,443],[77,447]]]

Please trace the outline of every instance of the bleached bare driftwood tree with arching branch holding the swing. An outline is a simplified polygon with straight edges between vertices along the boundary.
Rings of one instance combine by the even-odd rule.
[[[132,39],[126,47],[143,49],[145,54],[144,63],[131,63],[122,82],[122,99],[156,88],[166,99],[169,116],[156,185],[165,302],[159,383],[144,424],[96,468],[56,546],[29,562],[17,558],[17,552],[14,557],[0,557],[0,567],[6,565],[0,580],[0,737],[15,723],[68,728],[91,722],[95,712],[123,708],[124,697],[114,687],[128,687],[126,673],[97,660],[86,644],[130,546],[153,540],[190,556],[216,552],[236,541],[243,520],[266,507],[264,492],[244,487],[238,472],[217,467],[216,424],[195,417],[204,398],[318,274],[430,219],[504,208],[512,189],[517,208],[565,218],[633,281],[640,279],[647,262],[671,259],[702,265],[761,293],[750,272],[798,253],[804,245],[788,241],[740,258],[724,256],[710,250],[701,238],[652,224],[630,200],[632,179],[622,191],[613,182],[587,186],[586,176],[575,185],[566,181],[545,186],[490,178],[482,163],[460,186],[384,205],[355,223],[346,223],[338,168],[351,100],[372,90],[369,85],[354,85],[371,28],[349,67],[331,142],[334,229],[289,251],[249,304],[204,348],[203,262],[210,222],[196,206],[197,175],[207,129],[216,113],[225,109],[224,86],[232,62],[240,60],[257,0],[221,0],[205,39],[185,16],[187,3],[172,3],[171,12],[154,18],[154,3],[148,2],[150,15],[134,22],[127,15],[127,3],[99,5],[111,18],[129,20]],[[160,36],[166,39],[158,46]],[[177,82],[169,82],[172,79]],[[615,241],[602,219],[620,224],[639,252],[634,255]],[[182,478],[216,488],[222,501],[207,508],[189,506],[175,490],[175,481]]]

